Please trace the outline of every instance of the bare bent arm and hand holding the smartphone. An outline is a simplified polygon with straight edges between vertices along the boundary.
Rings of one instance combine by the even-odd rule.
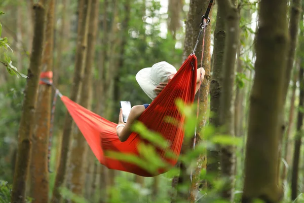
[[[118,138],[121,142],[125,142],[128,140],[128,138],[132,132],[131,127],[132,127],[133,123],[139,118],[139,116],[142,114],[142,112],[144,112],[144,110],[145,110],[145,108],[142,105],[132,107],[128,120],[127,120],[127,123],[124,123],[123,111],[121,109],[120,114],[119,114],[118,124],[119,125],[123,124],[125,126],[118,127],[116,130]]]

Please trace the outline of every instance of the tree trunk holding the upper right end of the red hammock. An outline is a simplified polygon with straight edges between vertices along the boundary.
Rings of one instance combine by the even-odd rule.
[[[185,59],[189,54],[193,52],[193,48],[197,42],[198,33],[200,31],[200,24],[201,24],[201,17],[204,15],[205,11],[207,10],[207,7],[209,5],[208,0],[192,0],[190,1],[190,8],[187,16],[187,20],[185,22],[186,24],[186,34],[185,34],[185,41],[184,41],[184,50],[183,50],[183,58]],[[211,18],[211,12],[209,17]],[[204,57],[201,61],[198,62],[198,67],[204,67],[205,69],[205,78],[201,84],[201,90],[196,95],[200,96],[200,109],[199,109],[199,119],[198,120],[198,126],[197,126],[197,138],[195,139],[196,145],[200,143],[200,141],[203,139],[203,134],[200,134],[203,132],[203,128],[207,121],[207,108],[208,108],[208,93],[209,93],[209,86],[210,86],[210,66],[211,66],[211,53],[210,53],[210,46],[211,46],[211,27],[208,25],[206,27],[206,33],[205,33],[205,47],[204,47]],[[202,40],[200,39],[200,43],[198,46],[198,49],[196,50],[196,55],[200,58],[202,55]],[[193,139],[191,139],[194,141]],[[191,141],[183,141],[183,151],[185,150],[193,150],[193,142]],[[181,194],[181,192],[178,192],[178,199],[184,198],[185,196],[187,199],[190,200],[190,202],[195,202],[199,185],[200,185],[200,173],[202,168],[206,167],[206,154],[201,154],[197,159],[197,166],[194,170],[192,182],[188,183],[190,184],[190,188],[188,191],[188,194]],[[185,182],[189,182],[191,179],[189,175],[186,172],[186,167],[183,167],[183,163],[180,164],[180,178],[178,181],[178,184],[186,184]],[[184,197],[183,197],[184,196]]]

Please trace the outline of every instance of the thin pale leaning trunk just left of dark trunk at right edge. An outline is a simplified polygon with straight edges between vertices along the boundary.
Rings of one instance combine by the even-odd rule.
[[[294,102],[295,102],[295,90],[296,90],[296,82],[297,82],[297,76],[298,76],[298,70],[299,70],[299,60],[297,61],[297,64],[294,69],[293,73],[293,80],[292,80],[292,90],[291,90],[291,98],[290,98],[290,107],[289,107],[289,118],[288,118],[288,125],[287,125],[287,130],[286,130],[286,135],[285,135],[285,149],[284,149],[284,160],[286,161],[286,164],[283,164],[283,169],[282,169],[282,176],[281,180],[282,182],[286,182],[287,179],[287,174],[288,174],[288,168],[291,166],[291,142],[290,142],[290,134],[291,130],[293,128],[293,121],[294,121]]]

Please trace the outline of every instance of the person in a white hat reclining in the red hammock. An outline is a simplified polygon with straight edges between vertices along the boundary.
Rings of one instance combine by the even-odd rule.
[[[147,96],[154,100],[176,73],[177,71],[173,65],[162,61],[154,64],[152,67],[146,67],[145,69],[140,70],[136,74],[136,81]],[[201,68],[197,70],[196,92],[200,86],[200,73]],[[205,70],[202,68],[202,80],[204,79],[204,76]],[[121,142],[128,140],[132,132],[132,124],[139,118],[139,116],[148,106],[148,104],[144,104],[132,107],[127,123],[123,121],[123,112],[122,109],[120,110],[119,122],[117,125],[117,135]]]

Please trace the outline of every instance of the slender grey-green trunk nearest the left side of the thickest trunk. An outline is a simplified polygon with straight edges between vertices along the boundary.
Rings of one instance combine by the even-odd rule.
[[[223,69],[221,75],[222,91],[220,97],[220,124],[223,133],[234,137],[234,82],[236,54],[239,43],[239,12],[237,1],[220,0],[218,7],[222,7],[225,13],[225,49],[223,58]],[[220,146],[221,174],[225,185],[221,196],[233,201],[234,175],[235,175],[235,148],[234,146]]]

